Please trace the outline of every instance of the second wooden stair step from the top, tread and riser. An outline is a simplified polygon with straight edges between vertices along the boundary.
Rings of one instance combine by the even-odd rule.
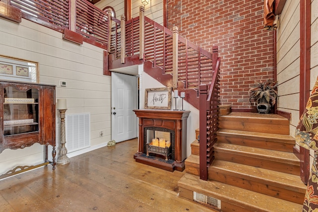
[[[220,129],[218,142],[293,152],[295,139],[289,135]]]

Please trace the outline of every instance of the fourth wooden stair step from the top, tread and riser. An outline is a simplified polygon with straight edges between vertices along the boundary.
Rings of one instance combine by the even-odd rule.
[[[299,176],[223,160],[213,161],[209,179],[298,204],[306,192]]]

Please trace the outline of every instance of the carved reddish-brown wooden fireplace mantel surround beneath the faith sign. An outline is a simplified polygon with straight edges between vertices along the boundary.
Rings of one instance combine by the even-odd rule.
[[[134,155],[137,162],[155,166],[168,171],[183,171],[186,158],[187,119],[190,111],[179,110],[134,110],[139,118],[138,152]],[[145,128],[158,127],[174,132],[172,152],[174,161],[170,163],[146,157]]]

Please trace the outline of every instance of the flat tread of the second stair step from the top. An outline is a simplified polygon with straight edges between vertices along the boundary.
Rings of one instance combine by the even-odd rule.
[[[257,133],[257,132],[248,132],[248,131],[239,131],[239,130],[226,130],[220,129],[218,135],[232,135],[233,137],[250,137],[256,140],[262,141],[276,141],[276,142],[285,142],[285,143],[295,143],[295,139],[290,135],[280,135],[280,134],[271,134],[271,133]]]

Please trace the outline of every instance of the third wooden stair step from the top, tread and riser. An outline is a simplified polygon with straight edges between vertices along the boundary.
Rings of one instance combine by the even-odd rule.
[[[229,143],[214,144],[215,158],[266,168],[288,174],[300,174],[300,161],[291,152],[241,146]]]

